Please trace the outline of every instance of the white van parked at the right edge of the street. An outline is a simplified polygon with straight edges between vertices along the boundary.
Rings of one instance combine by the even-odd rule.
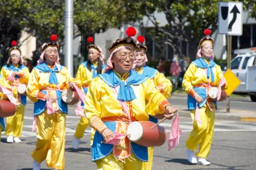
[[[256,48],[234,50],[237,54],[231,61],[231,70],[241,84],[235,93],[249,94],[252,101],[256,101]]]

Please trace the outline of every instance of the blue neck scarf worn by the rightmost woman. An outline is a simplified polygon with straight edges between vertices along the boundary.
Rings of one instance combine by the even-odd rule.
[[[207,62],[203,59],[203,57],[198,58],[192,62],[196,67],[201,69],[207,69],[207,79],[209,79],[211,74],[212,83],[214,83],[214,72],[212,68],[216,66],[216,63],[213,60],[210,60],[210,64],[208,65]]]

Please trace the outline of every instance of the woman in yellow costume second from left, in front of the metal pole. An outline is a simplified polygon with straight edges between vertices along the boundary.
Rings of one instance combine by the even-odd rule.
[[[59,64],[57,36],[42,44],[39,64],[34,67],[28,81],[27,94],[34,101],[34,125],[36,125],[36,148],[32,152],[33,169],[46,165],[52,169],[64,169],[65,122],[67,104],[61,99],[64,89],[73,89],[66,67]],[[35,128],[35,127],[34,127]]]

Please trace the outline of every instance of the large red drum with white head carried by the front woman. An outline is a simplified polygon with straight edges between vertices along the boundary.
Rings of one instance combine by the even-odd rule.
[[[131,122],[127,128],[127,137],[141,146],[161,146],[166,140],[166,131],[162,126],[154,126],[154,122]]]

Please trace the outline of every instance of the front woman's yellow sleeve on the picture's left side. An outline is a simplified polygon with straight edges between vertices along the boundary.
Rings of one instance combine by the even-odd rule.
[[[101,114],[101,107],[100,107],[100,89],[101,84],[103,82],[101,81],[100,77],[96,77],[92,80],[92,83],[88,89],[88,92],[86,94],[86,102],[85,102],[85,115],[86,118],[89,120],[92,120],[94,116],[100,117]]]

